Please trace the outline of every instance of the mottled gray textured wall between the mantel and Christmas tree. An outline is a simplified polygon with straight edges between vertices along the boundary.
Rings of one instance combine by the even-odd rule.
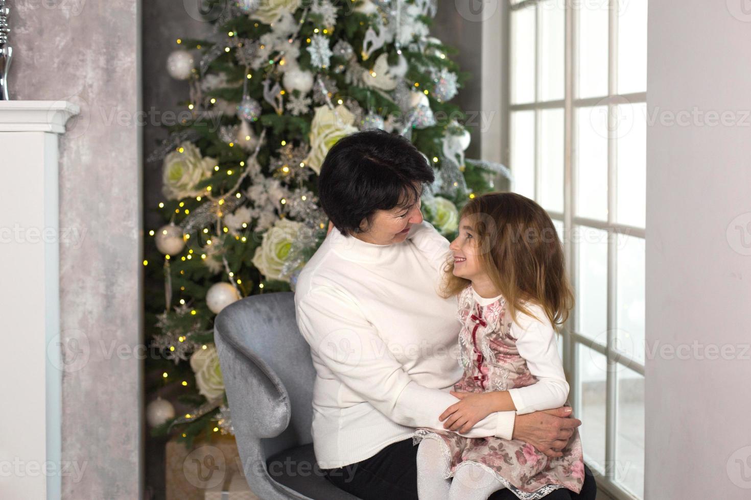
[[[62,379],[62,460],[85,469],[63,475],[63,498],[136,499],[142,361],[116,353],[142,337],[139,1],[10,7],[11,98],[81,106],[60,139],[59,202],[60,227],[85,232],[60,248],[62,343],[80,351]]]

